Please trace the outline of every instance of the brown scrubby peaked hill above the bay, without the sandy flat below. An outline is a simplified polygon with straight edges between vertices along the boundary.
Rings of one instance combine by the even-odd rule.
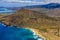
[[[1,20],[7,25],[16,25],[20,27],[33,28],[58,28],[60,21],[56,21],[45,14],[31,11],[27,9],[20,9],[15,14],[5,17]],[[48,25],[48,26],[47,26]]]

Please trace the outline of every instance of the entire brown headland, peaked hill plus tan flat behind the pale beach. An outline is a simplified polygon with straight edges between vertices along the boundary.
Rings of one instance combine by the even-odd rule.
[[[6,25],[36,29],[36,33],[47,40],[60,40],[60,21],[40,12],[20,9],[15,14],[3,17],[0,21]]]

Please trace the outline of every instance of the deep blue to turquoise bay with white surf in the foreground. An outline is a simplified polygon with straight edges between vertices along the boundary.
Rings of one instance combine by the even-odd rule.
[[[43,40],[25,28],[6,26],[0,23],[0,40]]]

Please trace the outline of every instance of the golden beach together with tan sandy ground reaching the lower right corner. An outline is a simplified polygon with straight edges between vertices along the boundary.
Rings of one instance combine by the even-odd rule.
[[[34,28],[27,28],[27,29],[32,30],[36,35],[38,35],[41,38],[44,38],[44,40],[60,40],[60,37],[54,36],[52,34],[49,34],[49,33],[43,34],[39,32],[39,30],[34,29]]]

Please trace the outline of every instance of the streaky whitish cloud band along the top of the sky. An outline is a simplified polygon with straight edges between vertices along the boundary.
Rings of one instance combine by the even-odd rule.
[[[33,4],[60,3],[60,0],[1,0],[3,2],[22,2]]]

